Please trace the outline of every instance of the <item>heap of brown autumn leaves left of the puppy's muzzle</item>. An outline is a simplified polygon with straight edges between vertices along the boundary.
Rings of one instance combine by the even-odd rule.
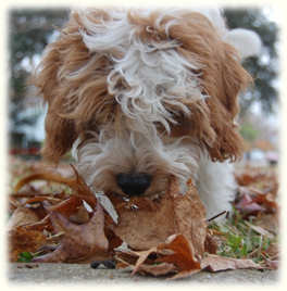
[[[47,193],[46,186],[29,185],[20,191],[35,180],[63,184],[70,191]],[[52,169],[30,174],[16,184],[9,202],[11,261],[22,252],[42,254],[37,262],[80,262],[108,252],[103,210],[76,172],[74,177]]]

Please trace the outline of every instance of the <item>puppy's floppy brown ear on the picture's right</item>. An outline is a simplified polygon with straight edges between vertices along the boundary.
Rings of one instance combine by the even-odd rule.
[[[215,141],[208,150],[213,161],[229,159],[235,161],[244,151],[244,140],[235,125],[239,112],[238,96],[252,81],[241,66],[237,51],[223,42],[223,53],[219,58],[221,66],[215,78],[216,90],[208,100],[210,122],[216,134]],[[215,72],[214,72],[215,73]]]

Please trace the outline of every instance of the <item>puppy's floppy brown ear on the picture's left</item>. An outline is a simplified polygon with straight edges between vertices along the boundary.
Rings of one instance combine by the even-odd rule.
[[[66,30],[71,30],[71,28]],[[70,34],[72,31],[65,33]],[[61,116],[63,114],[65,89],[60,72],[65,66],[66,56],[64,54],[71,53],[71,46],[73,46],[71,39],[65,37],[64,34],[62,31],[58,40],[47,47],[43,58],[32,78],[32,83],[39,88],[39,92],[48,103],[45,122],[46,139],[41,153],[45,159],[52,162],[58,162],[60,156],[71,149],[77,138],[74,121]]]

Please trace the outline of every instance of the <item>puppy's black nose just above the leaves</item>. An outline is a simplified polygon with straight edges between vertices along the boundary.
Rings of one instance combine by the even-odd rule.
[[[129,197],[137,197],[144,194],[150,187],[151,175],[146,173],[120,173],[116,175],[116,182],[124,193]]]

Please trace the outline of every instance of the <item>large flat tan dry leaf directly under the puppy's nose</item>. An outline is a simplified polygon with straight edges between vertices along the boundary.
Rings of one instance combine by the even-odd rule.
[[[120,216],[118,225],[110,227],[132,249],[148,250],[174,233],[183,233],[192,242],[195,253],[198,256],[203,254],[205,211],[191,181],[188,191],[180,194],[177,180],[171,178],[161,199],[148,203],[147,198],[137,199],[137,208],[124,207],[118,197],[111,194],[109,198]]]

